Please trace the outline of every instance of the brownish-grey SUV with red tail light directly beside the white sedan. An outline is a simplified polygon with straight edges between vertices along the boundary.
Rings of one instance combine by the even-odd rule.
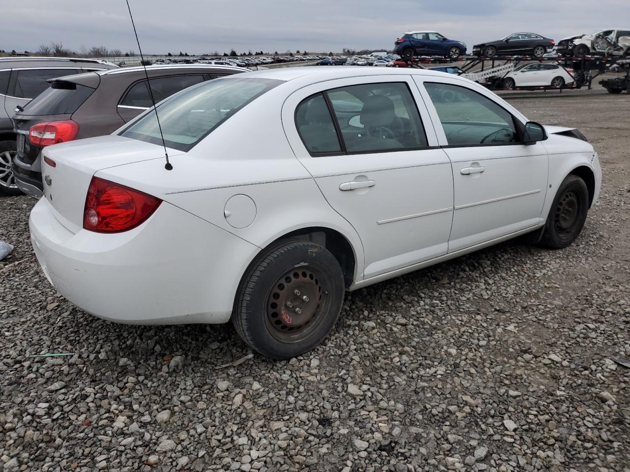
[[[200,82],[249,72],[203,64],[153,65],[146,70],[156,103]],[[88,72],[51,82],[13,118],[18,135],[14,179],[21,191],[36,198],[43,189],[43,147],[110,134],[151,107],[143,67]]]

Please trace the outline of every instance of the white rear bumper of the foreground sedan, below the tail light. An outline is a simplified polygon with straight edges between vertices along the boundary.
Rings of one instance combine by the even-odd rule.
[[[163,202],[127,232],[72,233],[42,198],[29,220],[50,283],[99,318],[137,324],[224,323],[241,274],[260,250]]]

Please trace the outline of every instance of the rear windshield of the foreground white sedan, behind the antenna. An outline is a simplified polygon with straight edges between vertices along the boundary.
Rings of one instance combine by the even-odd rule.
[[[192,149],[246,104],[281,83],[272,79],[226,77],[185,89],[157,106],[164,142],[173,149]],[[162,144],[153,109],[120,135]]]

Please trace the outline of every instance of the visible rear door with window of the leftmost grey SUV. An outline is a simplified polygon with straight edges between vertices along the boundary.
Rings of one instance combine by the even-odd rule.
[[[13,122],[16,106],[25,106],[31,99],[45,91],[50,84],[48,79],[78,74],[80,69],[74,67],[29,67],[13,69],[4,98],[4,111]]]

